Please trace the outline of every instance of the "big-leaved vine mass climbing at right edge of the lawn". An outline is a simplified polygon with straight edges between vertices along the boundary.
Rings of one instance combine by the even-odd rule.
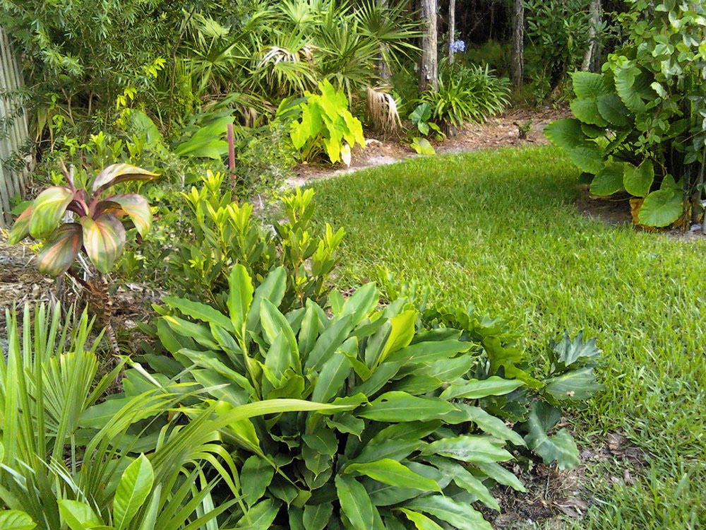
[[[573,74],[575,118],[550,124],[546,136],[593,175],[592,194],[634,196],[638,223],[663,227],[689,212],[696,220],[706,152],[706,8],[632,4],[628,44],[602,74]]]

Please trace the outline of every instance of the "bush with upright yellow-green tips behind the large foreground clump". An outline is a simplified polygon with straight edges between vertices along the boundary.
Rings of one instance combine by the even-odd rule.
[[[222,192],[222,173],[208,172],[203,187],[184,193],[193,217],[189,239],[169,256],[169,277],[174,293],[204,300],[221,310],[227,307],[228,273],[242,264],[262,281],[277,266],[287,269],[285,307],[304,305],[312,298],[325,300],[325,280],[337,263],[335,252],[343,230],[326,225],[323,234],[311,231],[313,190],[297,189],[281,199],[287,220],[273,230],[253,218],[253,206],[232,201]]]

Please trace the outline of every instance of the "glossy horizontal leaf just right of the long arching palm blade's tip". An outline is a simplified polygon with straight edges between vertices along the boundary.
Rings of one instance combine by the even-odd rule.
[[[387,392],[378,397],[359,413],[359,416],[375,421],[426,421],[435,420],[455,408],[448,401],[411,396],[407,392]]]

